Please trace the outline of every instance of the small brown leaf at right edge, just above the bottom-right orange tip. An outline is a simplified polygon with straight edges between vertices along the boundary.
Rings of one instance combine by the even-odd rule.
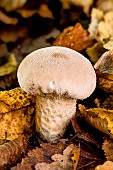
[[[113,140],[105,137],[102,149],[106,159],[108,161],[113,161]]]

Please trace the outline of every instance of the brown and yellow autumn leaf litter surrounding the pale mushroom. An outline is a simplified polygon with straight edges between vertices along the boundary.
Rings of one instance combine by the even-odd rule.
[[[113,169],[112,28],[112,0],[0,1],[1,170]],[[17,81],[21,60],[53,45],[83,54],[97,76],[94,93],[78,101],[56,144],[36,133],[35,97]]]

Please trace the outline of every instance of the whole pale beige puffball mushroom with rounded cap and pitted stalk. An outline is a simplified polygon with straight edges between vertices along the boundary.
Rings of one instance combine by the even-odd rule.
[[[77,99],[96,87],[90,61],[60,46],[38,49],[26,56],[17,72],[21,88],[36,96],[36,131],[48,142],[57,142],[76,112]]]

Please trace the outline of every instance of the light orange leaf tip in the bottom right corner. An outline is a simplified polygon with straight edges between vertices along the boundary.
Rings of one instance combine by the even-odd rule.
[[[113,170],[113,162],[106,161],[103,165],[98,165],[95,170]]]

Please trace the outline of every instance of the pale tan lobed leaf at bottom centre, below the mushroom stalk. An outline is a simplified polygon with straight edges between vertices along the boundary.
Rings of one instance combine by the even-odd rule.
[[[78,159],[79,159],[80,151],[73,144],[67,146],[67,148],[63,151],[63,155],[54,154],[51,159],[54,161],[50,164],[47,163],[38,163],[35,166],[36,170],[76,170]],[[73,162],[76,162],[76,164]]]

